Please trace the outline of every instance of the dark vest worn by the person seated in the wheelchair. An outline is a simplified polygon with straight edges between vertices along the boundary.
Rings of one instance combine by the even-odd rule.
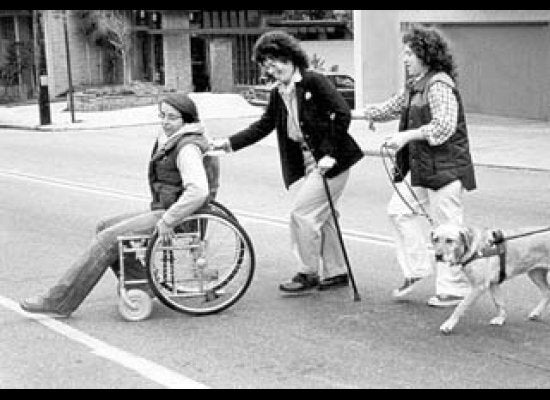
[[[183,182],[177,166],[179,151],[187,144],[197,145],[206,153],[208,141],[202,133],[185,133],[168,147],[158,150],[158,141],[153,146],[149,162],[149,187],[151,188],[151,210],[166,210],[183,193]],[[209,199],[215,198],[219,187],[220,166],[218,157],[203,156],[203,164],[208,177]]]

